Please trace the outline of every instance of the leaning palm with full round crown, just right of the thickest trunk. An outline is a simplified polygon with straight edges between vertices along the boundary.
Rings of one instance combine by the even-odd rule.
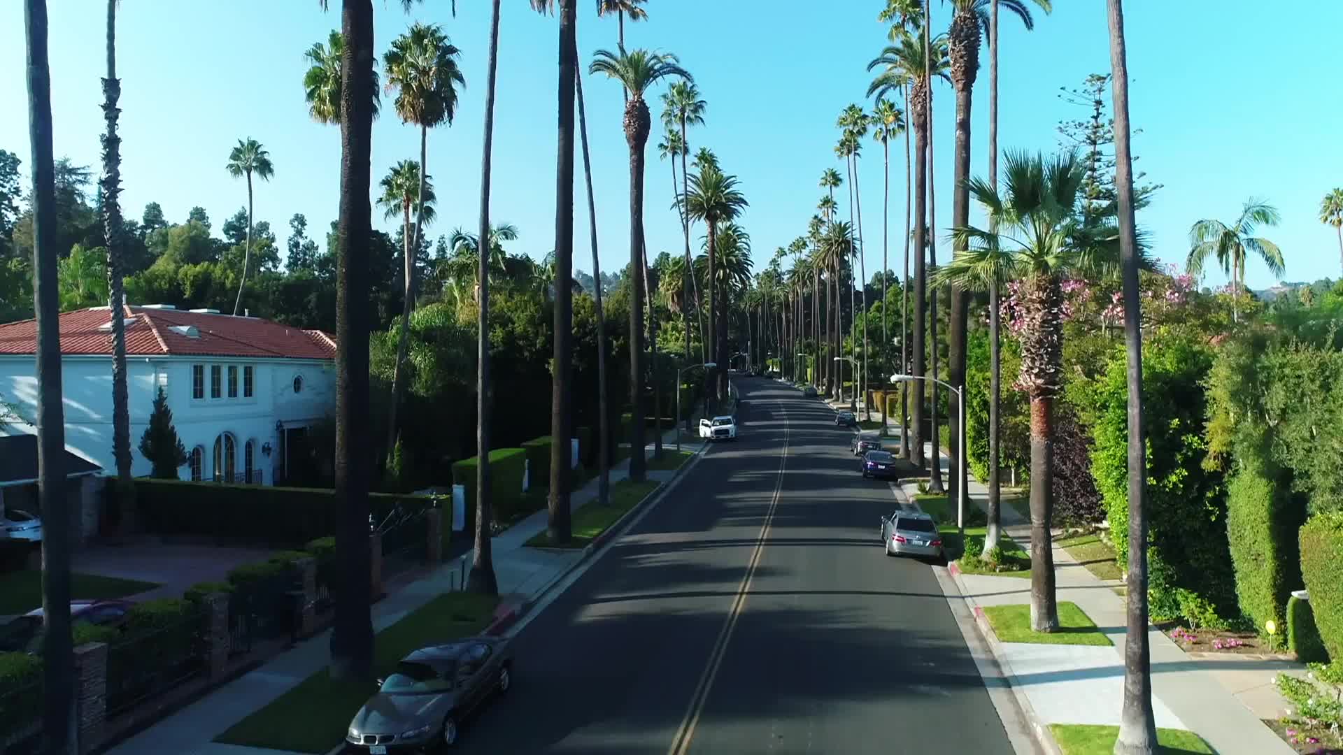
[[[415,232],[410,234],[406,254],[404,298],[402,322],[396,341],[396,363],[392,367],[392,400],[387,422],[387,454],[396,447],[398,407],[404,382],[403,364],[410,345],[411,310],[415,308],[415,253],[420,247],[424,224],[424,181],[428,173],[428,129],[439,124],[453,124],[457,113],[457,87],[466,86],[454,47],[438,24],[412,24],[410,31],[392,40],[383,55],[387,69],[387,90],[396,90],[396,114],[406,124],[420,128],[420,185],[416,195]]]

